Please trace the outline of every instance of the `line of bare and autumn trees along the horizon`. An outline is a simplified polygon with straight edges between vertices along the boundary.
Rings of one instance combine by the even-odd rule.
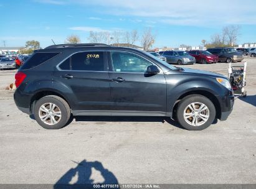
[[[210,47],[234,47],[237,44],[237,39],[240,35],[240,26],[239,25],[228,25],[222,28],[222,31],[216,34],[211,35],[211,41],[207,42],[206,40],[201,40],[201,47],[210,48]],[[126,47],[130,45],[131,47],[140,42],[141,47],[145,51],[149,50],[155,40],[156,34],[151,28],[146,28],[143,31],[139,32],[138,30],[114,30],[106,32],[97,32],[90,31],[88,38],[90,43],[102,43],[108,45],[115,45],[121,47],[124,44]],[[69,35],[65,41],[65,44],[79,44],[81,39],[78,35]],[[190,49],[191,45],[181,44],[179,47]],[[26,42],[24,48],[19,50],[19,53],[32,53],[34,50],[39,49],[40,42],[37,40],[29,40]]]

